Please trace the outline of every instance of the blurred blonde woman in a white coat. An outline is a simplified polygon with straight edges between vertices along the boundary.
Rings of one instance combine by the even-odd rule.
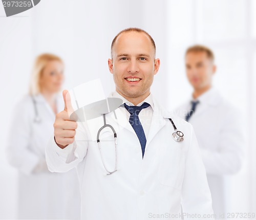
[[[62,81],[62,60],[52,54],[38,56],[30,94],[14,109],[7,153],[18,169],[20,219],[77,219],[80,215],[76,171],[51,173],[45,159],[55,115],[63,109],[58,96]]]

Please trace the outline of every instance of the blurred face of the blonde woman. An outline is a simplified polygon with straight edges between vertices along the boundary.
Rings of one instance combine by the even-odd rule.
[[[57,93],[63,82],[63,64],[53,60],[47,63],[39,81],[40,92]]]

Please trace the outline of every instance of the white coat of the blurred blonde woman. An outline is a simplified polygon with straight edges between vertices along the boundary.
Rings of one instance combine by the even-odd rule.
[[[80,193],[76,170],[33,173],[45,161],[45,148],[53,133],[55,114],[42,95],[35,96],[40,123],[35,123],[35,109],[30,96],[16,106],[10,129],[7,154],[18,169],[18,218],[77,219],[80,216]],[[58,111],[63,109],[61,97]],[[44,169],[44,166],[42,166]]]

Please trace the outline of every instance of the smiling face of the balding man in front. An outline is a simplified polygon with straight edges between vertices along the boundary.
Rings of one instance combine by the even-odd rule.
[[[108,61],[116,91],[121,96],[136,105],[150,95],[160,60],[155,59],[155,49],[145,33],[121,33],[113,47],[113,57]]]

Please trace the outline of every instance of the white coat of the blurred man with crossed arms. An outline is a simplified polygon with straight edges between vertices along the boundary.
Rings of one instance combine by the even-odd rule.
[[[185,118],[190,101],[175,110]],[[205,165],[212,196],[212,207],[219,213],[229,212],[231,203],[230,175],[239,171],[242,165],[244,136],[243,116],[214,88],[199,98],[195,113],[190,117],[195,129]]]

